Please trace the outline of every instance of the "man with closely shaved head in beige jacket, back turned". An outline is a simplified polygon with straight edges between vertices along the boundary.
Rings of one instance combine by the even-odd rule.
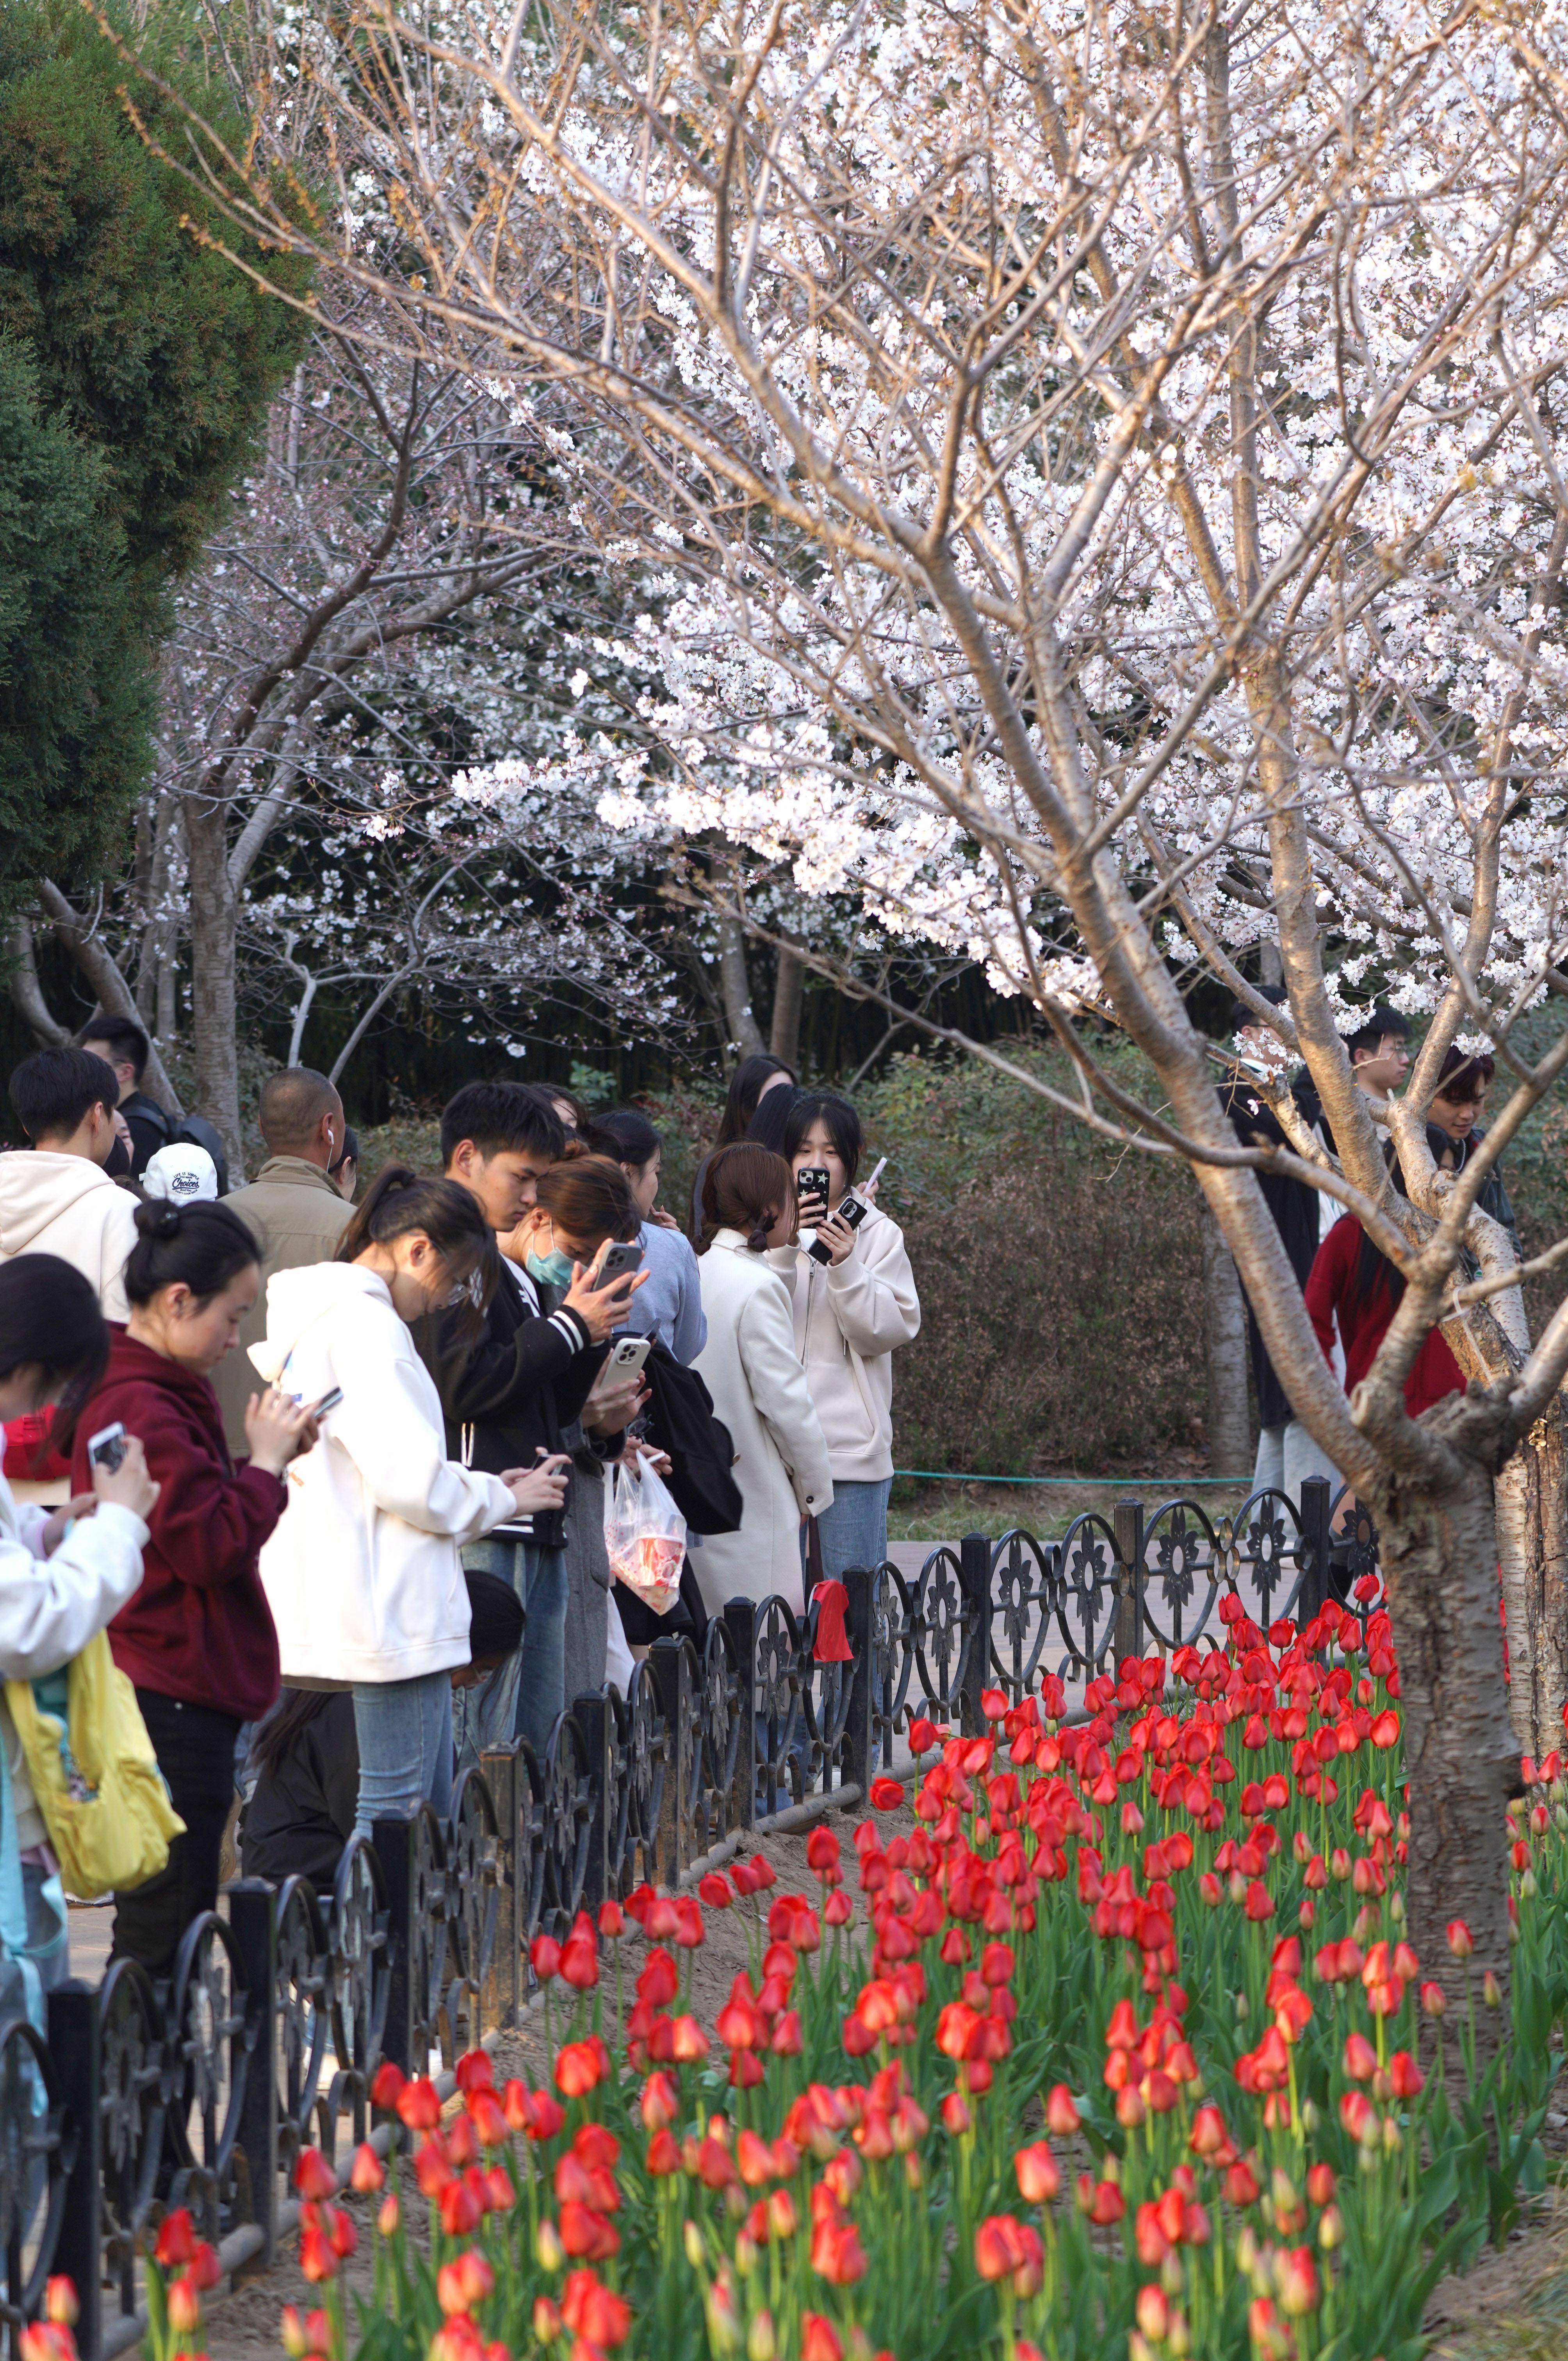
[[[262,1249],[262,1284],[255,1306],[239,1325],[239,1350],[224,1353],[213,1372],[234,1457],[246,1450],[246,1402],[262,1391],[250,1346],[267,1334],[269,1277],[274,1270],[331,1263],[338,1240],[354,1218],[354,1206],[345,1204],[328,1178],[342,1152],[347,1121],[326,1074],[307,1065],[286,1065],[281,1074],[272,1074],[262,1084],[257,1121],[267,1162],[248,1188],[224,1197],[224,1204],[250,1223]]]

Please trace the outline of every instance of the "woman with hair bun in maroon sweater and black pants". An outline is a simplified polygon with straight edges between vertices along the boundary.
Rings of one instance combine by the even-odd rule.
[[[236,1469],[210,1376],[239,1346],[260,1287],[255,1235],[224,1204],[137,1206],[125,1263],[130,1320],[111,1332],[102,1386],[76,1424],[71,1490],[92,1490],[87,1440],[120,1421],[142,1438],[158,1499],[142,1587],[109,1627],[113,1660],[168,1780],[184,1837],[168,1868],[116,1894],[111,1957],[168,1976],[179,1936],[217,1901],[234,1801],[234,1742],[279,1693],[279,1646],[257,1556],[288,1499],[283,1469],[309,1450],[309,1410],[272,1388],[246,1405],[250,1459]]]

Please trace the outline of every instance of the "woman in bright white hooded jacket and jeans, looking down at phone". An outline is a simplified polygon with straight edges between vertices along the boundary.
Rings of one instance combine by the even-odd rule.
[[[338,1258],[267,1282],[250,1360],[307,1402],[342,1388],[321,1443],[288,1471],[262,1587],[290,1688],[352,1688],[357,1827],[451,1806],[451,1669],[468,1662],[458,1551],[517,1516],[560,1509],[562,1459],[486,1476],[446,1457],[437,1384],[409,1322],[484,1301],[494,1247],[456,1180],[387,1166]]]

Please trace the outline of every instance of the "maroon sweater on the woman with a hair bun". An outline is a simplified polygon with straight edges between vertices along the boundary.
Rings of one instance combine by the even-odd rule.
[[[283,1513],[283,1478],[234,1473],[205,1376],[120,1327],[109,1339],[109,1372],[76,1426],[71,1490],[92,1490],[87,1438],[113,1419],[142,1438],[163,1485],[142,1589],[109,1624],[113,1660],[137,1688],[255,1721],[279,1693],[279,1639],[255,1561]]]

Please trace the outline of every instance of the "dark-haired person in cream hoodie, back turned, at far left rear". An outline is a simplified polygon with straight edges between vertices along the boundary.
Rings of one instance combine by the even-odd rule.
[[[104,1320],[125,1320],[125,1263],[137,1199],[104,1166],[116,1152],[118,1081],[85,1048],[43,1048],[12,1074],[12,1107],[33,1147],[0,1155],[0,1263],[57,1254],[92,1287]]]

